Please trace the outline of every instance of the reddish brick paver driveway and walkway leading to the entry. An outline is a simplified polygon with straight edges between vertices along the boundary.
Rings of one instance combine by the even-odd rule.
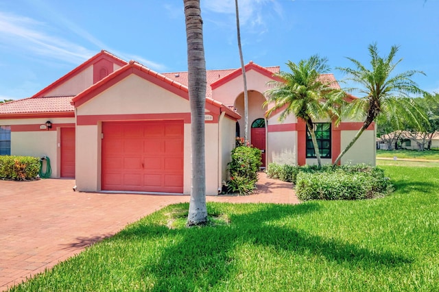
[[[0,291],[51,268],[128,223],[184,195],[73,192],[74,180],[0,181]],[[260,173],[249,196],[209,196],[208,202],[298,204],[292,184]]]

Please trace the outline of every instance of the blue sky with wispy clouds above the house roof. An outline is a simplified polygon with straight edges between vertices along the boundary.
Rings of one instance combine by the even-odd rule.
[[[239,0],[244,61],[318,53],[331,72],[399,45],[399,71],[439,92],[439,0]],[[202,1],[207,69],[238,68],[235,1]],[[0,100],[32,96],[101,49],[158,72],[187,71],[182,0],[0,0]]]

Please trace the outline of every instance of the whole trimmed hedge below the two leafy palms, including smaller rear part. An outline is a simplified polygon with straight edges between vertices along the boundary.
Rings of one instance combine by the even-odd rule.
[[[333,167],[270,163],[267,175],[295,184],[298,199],[370,199],[393,191],[384,171],[370,165]]]

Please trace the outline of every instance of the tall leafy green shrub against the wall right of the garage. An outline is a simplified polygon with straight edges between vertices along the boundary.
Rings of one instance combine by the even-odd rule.
[[[228,162],[230,180],[228,193],[248,195],[256,188],[258,171],[261,166],[261,150],[239,146],[232,150],[232,160]]]

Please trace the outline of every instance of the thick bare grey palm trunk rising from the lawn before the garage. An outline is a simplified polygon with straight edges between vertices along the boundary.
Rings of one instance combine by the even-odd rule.
[[[187,36],[189,103],[191,105],[192,185],[187,225],[207,221],[204,110],[206,104],[206,60],[200,0],[183,0]]]

